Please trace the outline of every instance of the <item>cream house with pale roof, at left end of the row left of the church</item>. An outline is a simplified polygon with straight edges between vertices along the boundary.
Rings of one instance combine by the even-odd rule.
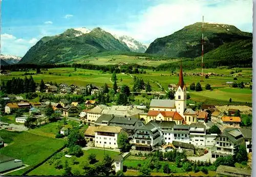
[[[95,122],[99,116],[105,112],[105,110],[109,110],[109,107],[105,105],[98,105],[87,112],[87,121],[88,122]]]

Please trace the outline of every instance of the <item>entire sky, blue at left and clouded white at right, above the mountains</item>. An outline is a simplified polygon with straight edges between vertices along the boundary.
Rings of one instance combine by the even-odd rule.
[[[202,21],[252,32],[252,0],[0,0],[1,54],[23,57],[44,36],[100,27],[150,44]]]

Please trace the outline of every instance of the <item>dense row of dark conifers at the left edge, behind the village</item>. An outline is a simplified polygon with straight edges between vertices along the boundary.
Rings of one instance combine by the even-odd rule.
[[[34,82],[32,75],[30,75],[29,78],[25,77],[24,79],[12,78],[6,83],[2,82],[1,90],[7,94],[35,92],[36,83]]]

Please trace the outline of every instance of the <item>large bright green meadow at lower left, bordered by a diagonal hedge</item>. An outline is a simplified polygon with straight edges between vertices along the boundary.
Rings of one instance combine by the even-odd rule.
[[[52,155],[65,141],[35,135],[29,132],[0,131],[0,136],[10,145],[0,149],[0,154],[23,160],[27,165],[36,165]]]

